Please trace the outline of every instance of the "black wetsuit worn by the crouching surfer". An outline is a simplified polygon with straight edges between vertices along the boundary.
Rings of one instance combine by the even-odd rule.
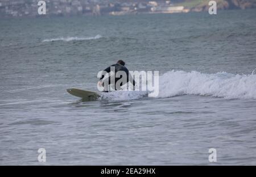
[[[115,68],[115,74],[117,74],[118,71],[125,71],[126,76],[127,76],[127,81],[125,83],[130,81],[131,83],[133,83],[133,86],[135,86],[135,81],[134,81],[133,77],[131,77],[131,75],[129,73],[129,70],[125,66],[123,66],[121,64],[114,64],[114,65],[111,65],[108,68],[106,68],[104,71],[106,71],[107,73],[110,73],[110,71],[111,71],[110,67],[114,67]],[[103,78],[104,78],[104,75],[101,75],[100,81]],[[109,85],[111,84],[111,79],[110,78],[111,78],[111,76],[108,78],[109,79]],[[121,78],[122,78],[122,75],[120,75],[120,77],[116,77],[116,75],[115,75],[115,78],[114,78],[115,84]],[[120,86],[125,85],[125,83],[121,82]],[[104,86],[104,83],[102,84],[102,86]],[[120,88],[115,88],[115,90],[119,90],[119,89]]]

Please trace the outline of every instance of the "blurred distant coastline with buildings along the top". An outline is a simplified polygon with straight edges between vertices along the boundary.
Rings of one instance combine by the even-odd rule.
[[[0,1],[0,17],[39,16],[39,0],[2,0]],[[76,15],[125,15],[125,14],[172,14],[179,12],[207,11],[207,0],[176,1],[121,1],[121,0],[46,0],[47,16]],[[216,0],[217,9],[252,9],[256,7],[254,0]]]

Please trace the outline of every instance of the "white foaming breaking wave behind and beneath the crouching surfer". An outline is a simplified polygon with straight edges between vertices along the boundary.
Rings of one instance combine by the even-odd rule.
[[[256,75],[254,73],[231,74],[219,72],[214,74],[199,71],[168,71],[159,76],[159,94],[157,98],[178,95],[204,95],[225,99],[256,99]],[[130,100],[150,96],[148,91],[114,91],[104,93],[102,98],[108,100]]]

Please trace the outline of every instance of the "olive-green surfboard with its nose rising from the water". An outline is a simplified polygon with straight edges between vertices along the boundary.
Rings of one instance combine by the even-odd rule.
[[[97,98],[100,97],[100,94],[94,91],[89,91],[89,90],[80,90],[77,88],[68,88],[67,91],[69,94],[78,96],[84,100],[96,100]]]

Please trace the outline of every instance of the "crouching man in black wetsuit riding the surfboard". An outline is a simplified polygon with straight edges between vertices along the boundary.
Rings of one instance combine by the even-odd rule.
[[[133,83],[133,90],[134,90],[135,81],[134,81],[133,77],[131,77],[131,74],[129,73],[129,70],[125,67],[125,62],[124,61],[118,60],[116,64],[111,65],[108,68],[106,68],[104,70],[105,74],[110,73],[110,71],[112,71],[111,68],[114,68],[113,71],[114,71],[115,75],[114,76],[109,76],[109,78],[108,78],[108,84],[109,85],[114,81],[114,84],[115,84],[114,89],[115,90],[120,90],[121,89],[120,86],[125,85],[125,83],[130,81],[131,83]],[[121,74],[121,75],[117,76],[118,71],[125,72],[127,79],[124,80],[124,81],[120,80],[120,79],[122,79],[123,75]],[[98,86],[103,86],[104,87],[104,82],[102,82],[102,79],[104,78],[104,76],[105,76],[104,74],[101,75],[100,81],[98,82]],[[117,82],[119,80],[122,81],[122,82],[120,83],[120,85],[117,86]],[[108,90],[106,90],[106,87],[107,86],[104,87],[104,92],[108,92]]]

